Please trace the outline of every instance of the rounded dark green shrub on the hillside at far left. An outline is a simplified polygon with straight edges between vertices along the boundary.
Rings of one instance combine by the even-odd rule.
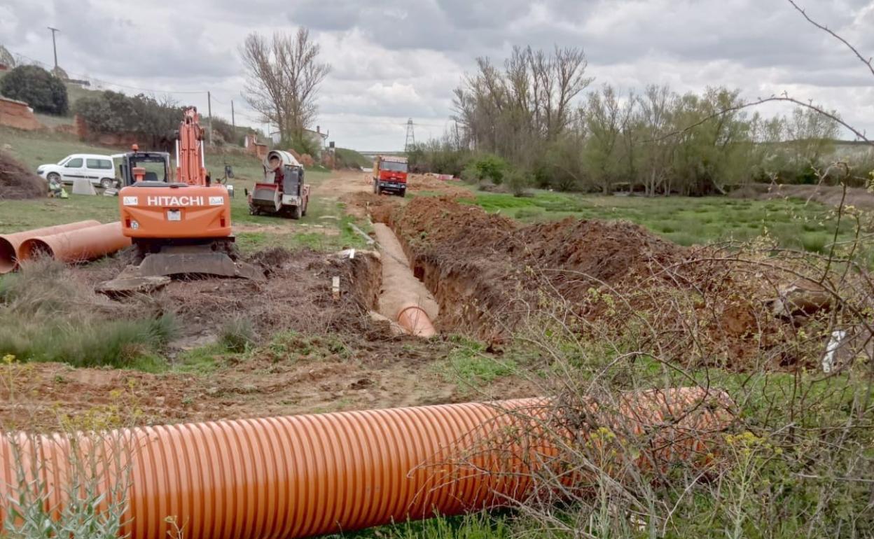
[[[66,114],[69,110],[64,82],[38,66],[18,66],[0,79],[0,93],[25,101],[45,114]]]

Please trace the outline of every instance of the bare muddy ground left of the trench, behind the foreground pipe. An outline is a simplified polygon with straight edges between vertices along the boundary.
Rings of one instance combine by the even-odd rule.
[[[319,185],[316,196],[344,197],[366,193],[369,187],[366,175],[344,172]],[[435,185],[428,183],[427,188],[434,190]],[[377,253],[357,252],[349,259],[348,254],[275,249],[249,261],[266,271],[266,283],[173,281],[149,298],[128,300],[131,311],[176,315],[178,335],[165,350],[170,370],[151,374],[59,363],[13,364],[0,378],[0,425],[51,430],[61,418],[82,414],[142,425],[536,393],[515,377],[470,387],[447,370],[447,357],[458,347],[454,340],[397,335],[378,320],[373,313],[386,287]],[[112,278],[124,263],[120,256],[67,271],[70,279],[91,287]],[[331,289],[336,276],[339,298]],[[393,288],[388,288],[384,301],[392,308]],[[88,301],[96,305],[107,300],[95,295]],[[250,351],[211,351],[222,328],[234,319],[251,323]],[[184,364],[192,350],[198,363]]]

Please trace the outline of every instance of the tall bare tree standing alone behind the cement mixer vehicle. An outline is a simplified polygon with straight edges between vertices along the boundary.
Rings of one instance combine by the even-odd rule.
[[[318,61],[321,47],[301,28],[294,36],[274,32],[269,40],[251,33],[239,49],[246,66],[244,97],[283,140],[301,140],[316,119],[319,86],[330,66]]]

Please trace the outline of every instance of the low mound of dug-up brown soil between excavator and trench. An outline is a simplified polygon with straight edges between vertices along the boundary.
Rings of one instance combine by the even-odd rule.
[[[94,286],[112,279],[124,257],[100,268],[73,268],[76,279]],[[246,260],[260,266],[266,282],[241,279],[173,280],[151,301],[177,314],[182,342],[218,334],[228,321],[245,318],[256,336],[277,330],[302,333],[367,331],[367,312],[377,303],[380,282],[378,258],[357,252],[354,259],[302,250],[274,248]],[[331,280],[340,278],[342,294],[333,297]]]

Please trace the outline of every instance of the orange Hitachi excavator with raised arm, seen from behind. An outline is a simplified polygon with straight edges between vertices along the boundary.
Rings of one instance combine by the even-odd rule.
[[[133,155],[141,154],[135,148]],[[197,108],[186,109],[179,125],[176,164],[176,177],[169,158],[131,160],[124,171],[121,228],[132,239],[139,264],[128,266],[119,279],[206,274],[263,280],[258,268],[237,260],[231,194],[206,171]]]

